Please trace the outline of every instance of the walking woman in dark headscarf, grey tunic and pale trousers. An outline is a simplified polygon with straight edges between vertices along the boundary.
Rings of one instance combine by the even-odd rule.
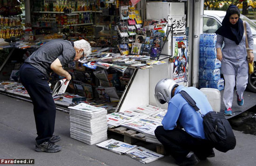
[[[237,104],[243,106],[243,92],[248,80],[248,61],[254,59],[253,37],[249,24],[240,19],[240,11],[235,5],[230,5],[222,21],[222,27],[217,31],[217,59],[222,61],[221,73],[225,79],[223,102],[225,115],[232,115],[232,101],[236,86]],[[249,48],[245,44],[245,32]],[[224,42],[224,46],[222,48]],[[249,53],[249,58],[247,58]]]

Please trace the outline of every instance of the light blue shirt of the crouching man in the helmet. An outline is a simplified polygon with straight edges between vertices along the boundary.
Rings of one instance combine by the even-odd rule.
[[[204,93],[195,87],[180,85],[176,88],[175,95],[168,103],[167,113],[162,120],[163,128],[165,130],[173,130],[177,125],[176,122],[179,121],[185,131],[191,136],[205,139],[202,117],[179,93],[182,90],[186,91],[195,100],[196,106],[201,110],[202,114],[212,111],[212,107]]]

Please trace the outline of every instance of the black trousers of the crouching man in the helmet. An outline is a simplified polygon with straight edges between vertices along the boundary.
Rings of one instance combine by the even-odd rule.
[[[194,138],[179,128],[164,130],[163,126],[158,126],[155,129],[155,137],[178,162],[182,161],[190,151],[199,158],[206,158],[213,148],[209,140]]]

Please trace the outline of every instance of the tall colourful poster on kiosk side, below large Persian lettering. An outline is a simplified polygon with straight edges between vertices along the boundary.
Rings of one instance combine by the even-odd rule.
[[[187,82],[187,39],[186,36],[176,36],[173,39],[173,80]]]

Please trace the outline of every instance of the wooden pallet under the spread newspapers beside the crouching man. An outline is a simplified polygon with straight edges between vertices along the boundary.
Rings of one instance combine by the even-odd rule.
[[[117,127],[117,128],[108,128],[109,131],[122,134],[124,137],[124,142],[133,145],[138,140],[142,140],[146,142],[145,134],[137,132],[135,130],[131,130],[125,127]],[[153,143],[154,144],[154,143]],[[166,152],[164,147],[159,144],[156,145],[156,153],[165,155]]]

